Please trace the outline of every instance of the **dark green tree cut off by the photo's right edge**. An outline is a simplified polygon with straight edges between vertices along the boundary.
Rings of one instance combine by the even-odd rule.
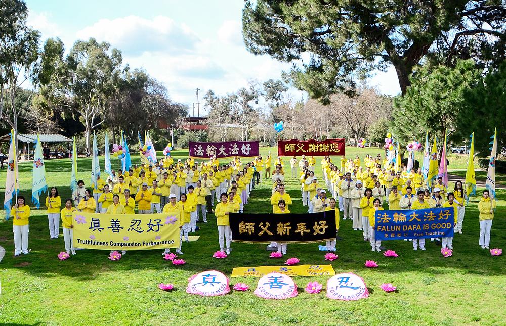
[[[506,62],[498,69],[490,70],[475,87],[463,91],[459,103],[456,129],[462,130],[463,139],[475,133],[475,153],[480,157],[490,155],[490,136],[497,128],[497,153],[506,155]]]

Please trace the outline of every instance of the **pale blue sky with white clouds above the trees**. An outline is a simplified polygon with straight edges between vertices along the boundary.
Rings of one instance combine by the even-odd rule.
[[[59,37],[66,50],[90,37],[122,51],[123,63],[143,68],[161,81],[173,101],[205,115],[203,95],[226,95],[248,80],[281,79],[291,64],[250,54],[242,41],[241,0],[26,0],[28,24],[45,41]],[[368,80],[383,94],[400,92],[393,67]],[[307,94],[293,87],[300,99]],[[195,106],[195,114],[193,114]]]

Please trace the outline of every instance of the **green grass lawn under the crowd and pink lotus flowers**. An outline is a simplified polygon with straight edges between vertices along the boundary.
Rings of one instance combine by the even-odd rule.
[[[262,149],[265,156],[269,149]],[[276,153],[274,148],[271,151]],[[379,149],[347,148],[347,157],[380,153]],[[188,151],[173,151],[175,159]],[[117,160],[112,158],[113,165]],[[135,157],[135,161],[138,161]],[[286,159],[285,163],[288,159]],[[321,177],[319,159],[317,175]],[[464,163],[465,164],[465,163]],[[78,178],[90,184],[91,159],[79,158]],[[21,194],[31,198],[31,163],[20,165]],[[103,165],[102,165],[103,167]],[[50,186],[59,188],[62,199],[70,196],[71,162],[46,161]],[[302,213],[298,182],[286,171],[287,190],[294,204],[292,212]],[[5,184],[5,170],[0,185]],[[450,186],[452,187],[452,185]],[[3,189],[0,197],[3,198]],[[246,212],[270,212],[271,183],[264,182],[252,192]],[[491,248],[506,247],[504,201],[506,191],[498,191],[498,209],[492,226]],[[45,197],[41,199],[41,202]],[[64,250],[63,236],[49,239],[46,210],[32,210],[30,217],[29,255],[13,257],[12,220],[0,222],[0,246],[6,257],[0,263],[0,323],[12,324],[178,324],[178,325],[503,325],[506,312],[506,267],[504,257],[492,257],[478,245],[477,199],[466,209],[463,234],[453,240],[454,254],[444,258],[440,247],[427,241],[427,251],[413,251],[410,242],[388,241],[398,258],[371,253],[361,232],[351,228],[351,221],[341,221],[337,248],[339,259],[325,262],[316,244],[288,245],[288,257],[298,257],[300,264],[332,264],[336,272],[354,272],[364,278],[370,292],[368,299],[357,302],[329,300],[325,291],[307,294],[305,285],[318,281],[326,287],[328,277],[294,277],[299,295],[287,300],[267,301],[256,297],[258,278],[232,278],[231,285],[245,282],[251,291],[231,292],[222,297],[204,298],[185,292],[188,277],[216,269],[230,275],[234,267],[283,265],[284,259],[269,258],[265,245],[233,243],[226,259],[214,259],[219,249],[216,218],[197,232],[200,239],[184,243],[186,265],[173,266],[163,260],[161,250],[129,251],[120,261],[110,261],[108,252],[77,251],[76,256],[59,261]],[[286,258],[288,258],[286,257]],[[379,267],[367,269],[365,260],[375,260]],[[163,292],[158,283],[174,283],[176,291]],[[392,283],[395,293],[385,293],[379,285]],[[501,304],[502,302],[502,304]]]

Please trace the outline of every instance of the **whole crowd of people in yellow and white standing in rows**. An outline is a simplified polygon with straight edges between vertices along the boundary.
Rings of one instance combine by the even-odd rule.
[[[334,210],[336,229],[339,230],[340,212],[343,220],[352,220],[352,228],[362,231],[364,241],[370,242],[372,251],[381,251],[381,241],[376,241],[376,210],[411,210],[438,207],[453,207],[454,231],[462,233],[467,194],[461,181],[455,182],[448,191],[442,178],[430,185],[424,180],[421,168],[409,171],[401,166],[400,171],[387,159],[366,155],[363,162],[358,156],[338,164],[330,157],[321,159],[320,179],[315,175],[316,159],[292,157],[289,160],[291,178],[300,180],[303,206],[308,213]],[[181,244],[189,241],[189,234],[198,231],[197,222],[202,218],[207,223],[208,214],[217,218],[218,243],[221,251],[230,254],[232,231],[229,214],[242,213],[248,204],[251,191],[265,179],[272,182],[270,204],[275,214],[290,213],[293,201],[285,189],[284,163],[281,157],[274,161],[259,155],[245,164],[234,157],[229,163],[220,164],[216,157],[209,161],[195,162],[193,158],[175,162],[169,155],[162,161],[134,165],[127,173],[111,171],[107,178],[97,176],[90,188],[79,180],[71,198],[62,200],[56,187],[52,187],[46,198],[50,239],[58,239],[60,220],[67,253],[75,253],[72,235],[72,212],[83,211],[102,214],[150,214],[170,213],[180,221],[181,242],[177,254],[183,254]],[[320,182],[319,182],[320,181]],[[217,205],[215,206],[215,201]],[[489,248],[490,229],[496,202],[487,190],[479,202],[480,240],[482,248]],[[14,220],[14,255],[28,254],[28,220],[30,208],[23,196],[17,197],[12,208]],[[441,241],[443,248],[452,248],[452,238],[431,239]],[[425,250],[425,239],[411,239],[413,249]],[[286,254],[286,244],[271,243],[278,252]],[[327,250],[336,250],[336,239],[328,241]],[[123,251],[123,254],[126,252]],[[165,249],[163,254],[170,253]]]

